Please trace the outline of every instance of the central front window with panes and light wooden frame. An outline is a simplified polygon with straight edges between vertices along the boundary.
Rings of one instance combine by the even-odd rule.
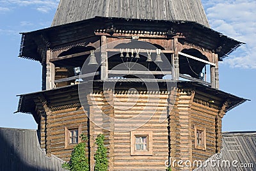
[[[131,155],[152,154],[152,131],[131,131]]]

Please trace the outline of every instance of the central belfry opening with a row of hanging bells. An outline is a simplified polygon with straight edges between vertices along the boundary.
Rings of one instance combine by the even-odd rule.
[[[123,73],[123,78],[162,79],[165,74],[161,71],[172,71],[171,54],[161,52],[161,57],[158,56],[158,59],[163,62],[156,62],[157,50],[165,50],[160,45],[132,40],[129,43],[116,45],[114,48],[119,52],[108,52],[109,78],[115,78]],[[127,71],[129,73],[125,74]]]

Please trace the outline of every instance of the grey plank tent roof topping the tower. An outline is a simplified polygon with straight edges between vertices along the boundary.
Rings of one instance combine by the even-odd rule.
[[[195,21],[209,27],[200,0],[60,0],[52,26],[99,17]]]

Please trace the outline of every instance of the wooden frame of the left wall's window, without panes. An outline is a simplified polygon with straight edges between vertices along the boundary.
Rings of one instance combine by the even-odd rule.
[[[77,144],[79,144],[82,139],[80,137],[80,135],[82,134],[82,125],[79,126],[65,126],[64,127],[64,137],[65,137],[65,149],[74,149],[74,147],[77,144],[70,144],[70,130],[78,130],[78,142]]]

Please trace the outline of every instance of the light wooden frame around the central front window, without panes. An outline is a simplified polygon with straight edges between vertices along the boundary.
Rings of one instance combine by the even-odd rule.
[[[152,156],[153,155],[153,131],[131,131],[131,156]],[[136,137],[147,137],[147,150],[136,150]]]

